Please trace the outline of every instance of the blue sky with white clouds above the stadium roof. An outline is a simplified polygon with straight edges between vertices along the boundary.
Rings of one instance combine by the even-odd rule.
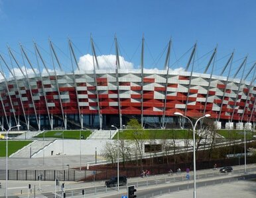
[[[246,73],[256,61],[255,7],[253,0],[0,0],[0,54],[7,64],[17,67],[9,57],[9,46],[20,66],[29,69],[28,63],[23,61],[19,46],[22,44],[33,67],[37,67],[33,48],[36,42],[52,69],[50,39],[63,68],[68,70],[72,63],[68,48],[70,38],[81,67],[91,69],[92,35],[101,67],[106,69],[115,67],[116,35],[121,66],[138,69],[144,35],[147,69],[164,68],[166,46],[171,39],[170,69],[184,69],[192,47],[197,44],[194,71],[203,72],[218,45],[214,73],[221,73],[233,51],[231,73],[235,73],[248,55]],[[0,63],[5,67],[2,60]],[[225,71],[226,76],[227,73]],[[241,72],[239,75],[241,77]]]

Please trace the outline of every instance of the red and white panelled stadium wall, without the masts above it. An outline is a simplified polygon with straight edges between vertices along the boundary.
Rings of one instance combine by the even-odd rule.
[[[96,114],[100,125],[105,115],[119,116],[120,125],[125,115],[155,116],[163,126],[174,112],[251,123],[256,115],[255,84],[188,71],[144,69],[143,75],[141,69],[58,72],[8,79],[0,87],[2,123],[14,118],[21,123],[21,117],[28,123],[34,117],[38,128],[42,116],[53,127],[54,116],[65,123],[70,114],[77,115],[80,123],[84,116]]]

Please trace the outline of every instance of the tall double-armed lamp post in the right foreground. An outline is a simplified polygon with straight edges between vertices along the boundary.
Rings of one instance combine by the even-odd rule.
[[[193,127],[193,161],[194,161],[194,193],[193,193],[193,197],[196,198],[196,124],[198,123],[198,121],[204,117],[210,117],[211,115],[210,114],[206,114],[202,117],[199,117],[197,120],[196,120],[196,123],[195,125],[193,125],[191,119],[189,119],[188,117],[184,116],[183,114],[180,114],[179,112],[175,112],[174,113],[175,116],[182,116],[182,117],[185,117],[186,119],[188,119],[188,121],[190,121],[192,127]]]

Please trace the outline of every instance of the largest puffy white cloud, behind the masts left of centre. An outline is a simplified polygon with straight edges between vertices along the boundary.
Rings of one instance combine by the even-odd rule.
[[[97,62],[99,63],[99,69],[115,69],[116,57],[113,54],[98,55]],[[133,63],[125,61],[124,57],[119,55],[121,69],[133,69]],[[96,64],[96,63],[95,63]],[[83,55],[79,58],[78,66],[81,70],[93,70],[94,62],[93,56],[90,54]]]

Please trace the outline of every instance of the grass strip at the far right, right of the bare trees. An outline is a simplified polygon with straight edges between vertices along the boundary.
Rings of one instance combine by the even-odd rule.
[[[219,133],[226,139],[244,139],[243,130],[218,130],[217,133]],[[245,134],[246,139],[253,139],[253,131],[245,130]]]

